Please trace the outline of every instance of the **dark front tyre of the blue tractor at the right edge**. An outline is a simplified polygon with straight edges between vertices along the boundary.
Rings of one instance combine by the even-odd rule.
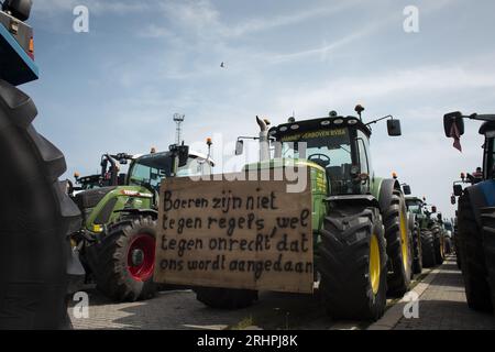
[[[468,305],[475,310],[492,311],[482,229],[476,223],[469,193],[459,198],[458,227]]]

